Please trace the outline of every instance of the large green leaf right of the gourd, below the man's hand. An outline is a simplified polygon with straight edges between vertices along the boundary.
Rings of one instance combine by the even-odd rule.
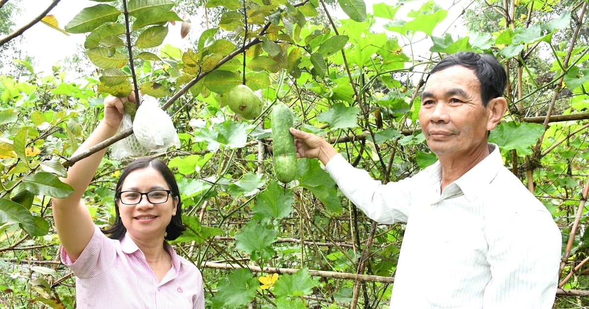
[[[317,160],[300,159],[297,162],[299,185],[319,198],[330,215],[342,212],[342,204],[337,198],[335,181],[320,167]]]

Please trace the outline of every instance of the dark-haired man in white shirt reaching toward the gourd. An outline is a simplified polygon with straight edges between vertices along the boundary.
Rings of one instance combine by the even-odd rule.
[[[491,55],[460,52],[430,72],[419,124],[438,161],[386,185],[328,142],[292,128],[297,155],[319,158],[380,224],[406,222],[391,308],[551,308],[561,234],[550,212],[487,142],[507,77]]]

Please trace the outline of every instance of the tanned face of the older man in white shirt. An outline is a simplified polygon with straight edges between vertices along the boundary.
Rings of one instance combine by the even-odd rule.
[[[438,158],[468,160],[487,151],[487,131],[497,124],[482,106],[474,72],[458,65],[429,76],[421,97],[419,124]]]

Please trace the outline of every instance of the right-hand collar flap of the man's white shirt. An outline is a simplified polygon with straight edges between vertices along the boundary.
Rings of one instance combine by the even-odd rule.
[[[468,201],[472,202],[479,197],[480,192],[485,190],[486,185],[491,183],[497,176],[499,168],[503,166],[499,147],[491,143],[488,143],[488,147],[489,155],[454,181]]]

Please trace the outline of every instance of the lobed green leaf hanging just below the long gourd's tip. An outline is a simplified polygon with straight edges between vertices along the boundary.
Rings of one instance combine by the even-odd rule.
[[[278,182],[270,182],[266,190],[257,195],[254,213],[280,220],[293,210],[294,197],[291,190],[285,190]]]

